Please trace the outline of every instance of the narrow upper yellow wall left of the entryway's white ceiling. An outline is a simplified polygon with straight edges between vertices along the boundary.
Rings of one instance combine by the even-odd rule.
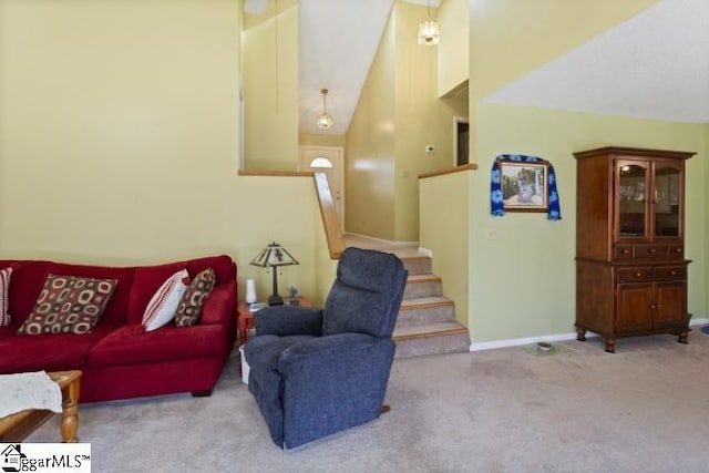
[[[270,1],[264,13],[245,13],[243,28],[244,168],[296,171],[297,0]]]

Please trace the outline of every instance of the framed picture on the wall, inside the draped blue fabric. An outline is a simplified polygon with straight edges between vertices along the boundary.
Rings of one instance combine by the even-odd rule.
[[[499,161],[505,212],[548,212],[548,163]]]

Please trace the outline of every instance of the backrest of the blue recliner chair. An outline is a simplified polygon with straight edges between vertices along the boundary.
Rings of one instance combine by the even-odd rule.
[[[390,338],[405,286],[407,270],[395,255],[345,249],[325,304],[322,335],[359,332]]]

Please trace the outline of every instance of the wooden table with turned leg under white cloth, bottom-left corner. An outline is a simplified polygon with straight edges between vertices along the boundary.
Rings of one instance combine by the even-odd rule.
[[[62,391],[62,421],[60,430],[63,443],[76,443],[79,428],[79,394],[81,371],[48,372]],[[41,409],[28,409],[0,419],[0,442],[22,442],[54,413]]]

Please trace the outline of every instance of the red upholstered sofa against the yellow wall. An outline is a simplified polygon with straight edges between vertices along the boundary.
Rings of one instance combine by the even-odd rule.
[[[40,260],[0,260],[10,278],[12,322],[0,327],[0,373],[79,369],[81,402],[192,392],[208,395],[236,338],[236,264],[212,256],[157,266],[101,267]],[[136,330],[157,288],[186,268],[195,277],[214,269],[216,285],[194,327]],[[94,331],[88,335],[17,335],[47,275],[117,279]]]

